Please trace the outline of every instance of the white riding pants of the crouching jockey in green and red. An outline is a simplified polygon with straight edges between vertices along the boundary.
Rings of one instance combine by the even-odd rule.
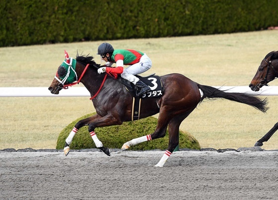
[[[130,65],[126,69],[124,69],[121,76],[124,79],[127,79],[128,81],[132,82],[134,85],[139,81],[139,78],[137,78],[134,75],[141,74],[151,68],[151,60],[149,57],[144,53],[142,57],[140,58],[140,61],[138,63],[135,63],[133,65]]]

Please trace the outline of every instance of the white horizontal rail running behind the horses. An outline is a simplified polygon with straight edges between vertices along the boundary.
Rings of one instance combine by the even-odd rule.
[[[213,86],[226,92],[247,93],[255,96],[278,96],[278,86],[264,86],[259,92],[253,92],[248,86]],[[70,87],[61,90],[59,95],[50,93],[47,87],[0,87],[0,97],[90,97],[85,87]]]

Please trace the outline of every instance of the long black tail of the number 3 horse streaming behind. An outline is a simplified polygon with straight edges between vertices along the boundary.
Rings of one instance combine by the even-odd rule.
[[[268,101],[267,99],[261,100],[253,95],[248,95],[245,93],[227,93],[211,86],[204,86],[198,84],[198,87],[203,91],[204,96],[201,98],[200,103],[208,98],[208,99],[226,99],[233,100],[236,102],[244,103],[247,105],[251,105],[262,112],[266,112],[269,108],[267,107]],[[227,91],[227,90],[226,90]]]

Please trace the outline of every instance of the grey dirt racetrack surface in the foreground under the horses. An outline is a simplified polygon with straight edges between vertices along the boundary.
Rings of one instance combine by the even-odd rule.
[[[278,199],[278,151],[0,151],[0,200]]]

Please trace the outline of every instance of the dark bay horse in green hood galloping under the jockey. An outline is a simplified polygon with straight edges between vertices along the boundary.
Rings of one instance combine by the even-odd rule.
[[[66,59],[59,66],[49,90],[52,94],[58,95],[63,88],[81,82],[90,92],[91,100],[97,113],[75,124],[66,139],[65,155],[70,151],[69,146],[75,133],[86,125],[89,126],[88,131],[96,147],[110,155],[110,150],[98,140],[94,130],[96,127],[121,125],[124,121],[132,121],[134,96],[117,79],[107,76],[107,74],[98,74],[97,68],[100,65],[93,61],[92,56],[79,56],[77,53],[76,59],[73,59],[68,56],[66,51],[65,55]],[[167,74],[161,76],[160,79],[163,85],[163,95],[154,98],[141,98],[140,106],[140,118],[159,112],[156,129],[152,134],[133,139],[122,147],[122,150],[127,150],[130,146],[141,142],[164,137],[168,127],[169,146],[160,161],[155,165],[156,167],[162,167],[178,146],[181,122],[205,98],[222,98],[251,105],[263,112],[267,110],[266,99],[261,100],[244,93],[226,93],[210,86],[200,85],[182,74]]]

